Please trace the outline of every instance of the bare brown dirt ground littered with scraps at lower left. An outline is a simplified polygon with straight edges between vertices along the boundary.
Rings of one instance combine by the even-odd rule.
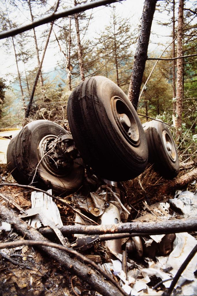
[[[31,207],[31,192],[29,190],[6,186],[1,188],[0,192],[14,198],[18,205],[24,209]],[[2,199],[1,202],[4,205],[7,204]],[[7,206],[14,212],[19,213],[14,206],[10,204]],[[61,218],[64,217],[62,219],[64,224],[67,219],[72,219],[71,216],[65,215],[65,211],[64,208],[60,208]],[[13,229],[11,231],[1,231],[0,242],[11,242],[20,239],[22,237]],[[82,296],[94,295],[95,292],[87,284],[79,281],[76,276],[72,276],[58,263],[47,258],[35,247],[25,246],[20,250],[16,249],[7,251],[18,265],[0,256],[0,296],[70,296],[75,295],[74,289]],[[19,265],[20,263],[25,263],[26,266],[22,267]]]

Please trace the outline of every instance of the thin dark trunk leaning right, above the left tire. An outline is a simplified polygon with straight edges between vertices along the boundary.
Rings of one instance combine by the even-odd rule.
[[[57,3],[56,3],[56,7],[55,7],[54,12],[57,11],[58,6],[59,6],[59,0],[57,0]],[[47,36],[47,39],[46,39],[46,44],[45,44],[44,51],[43,51],[43,54],[42,54],[42,59],[41,59],[40,65],[38,67],[38,72],[37,72],[37,75],[35,77],[33,89],[32,89],[32,92],[31,92],[30,99],[29,99],[29,104],[28,104],[27,110],[25,112],[25,118],[28,118],[29,117],[29,112],[30,112],[30,109],[31,109],[31,105],[32,105],[32,101],[33,101],[33,96],[34,96],[35,89],[36,89],[36,86],[37,86],[37,83],[38,83],[38,78],[39,78],[40,71],[41,71],[41,68],[42,68],[42,63],[43,63],[43,60],[44,60],[46,49],[47,49],[47,46],[48,46],[48,43],[49,43],[49,38],[51,36],[51,31],[52,31],[52,28],[53,28],[53,24],[54,24],[54,22],[51,22],[51,27],[50,27],[50,30],[49,30],[49,33],[48,33],[48,36]]]

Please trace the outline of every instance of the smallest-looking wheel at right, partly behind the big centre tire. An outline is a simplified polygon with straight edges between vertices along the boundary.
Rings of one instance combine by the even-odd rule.
[[[159,173],[172,179],[179,172],[179,158],[175,142],[167,125],[162,121],[151,120],[143,124],[148,143],[148,161],[154,163]]]

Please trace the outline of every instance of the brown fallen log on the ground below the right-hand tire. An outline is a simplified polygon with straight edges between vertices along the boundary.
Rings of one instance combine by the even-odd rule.
[[[197,179],[197,168],[194,170],[191,170],[189,173],[186,173],[180,178],[170,181],[167,184],[157,186],[156,191],[159,194],[167,194],[171,192],[173,189],[177,187],[181,188],[196,179]]]

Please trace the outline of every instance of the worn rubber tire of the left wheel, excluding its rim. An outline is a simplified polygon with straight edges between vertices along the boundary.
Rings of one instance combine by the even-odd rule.
[[[35,120],[28,123],[20,133],[9,143],[7,149],[7,163],[13,178],[19,183],[31,183],[35,168],[41,160],[38,152],[40,141],[48,135],[61,136],[68,132],[58,124],[48,120]],[[53,189],[58,193],[72,192],[83,182],[84,168],[81,159],[73,163],[70,170],[62,175],[51,173],[40,163],[33,185],[45,189]]]

